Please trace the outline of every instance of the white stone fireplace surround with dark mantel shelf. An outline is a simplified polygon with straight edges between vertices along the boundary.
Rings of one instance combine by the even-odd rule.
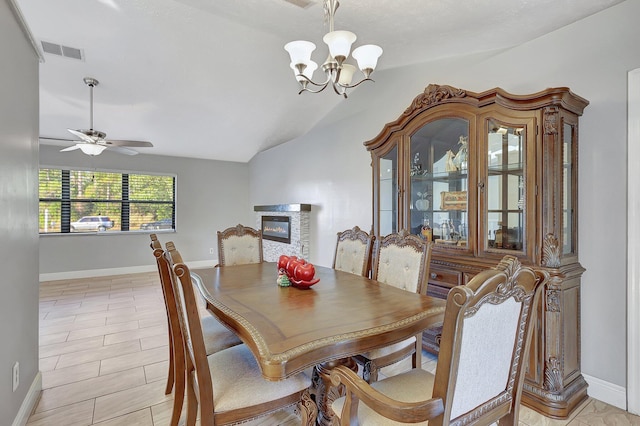
[[[256,229],[262,229],[262,216],[289,216],[291,218],[291,243],[262,240],[262,252],[266,262],[276,262],[280,255],[309,259],[310,204],[275,204],[253,206],[256,213]]]

